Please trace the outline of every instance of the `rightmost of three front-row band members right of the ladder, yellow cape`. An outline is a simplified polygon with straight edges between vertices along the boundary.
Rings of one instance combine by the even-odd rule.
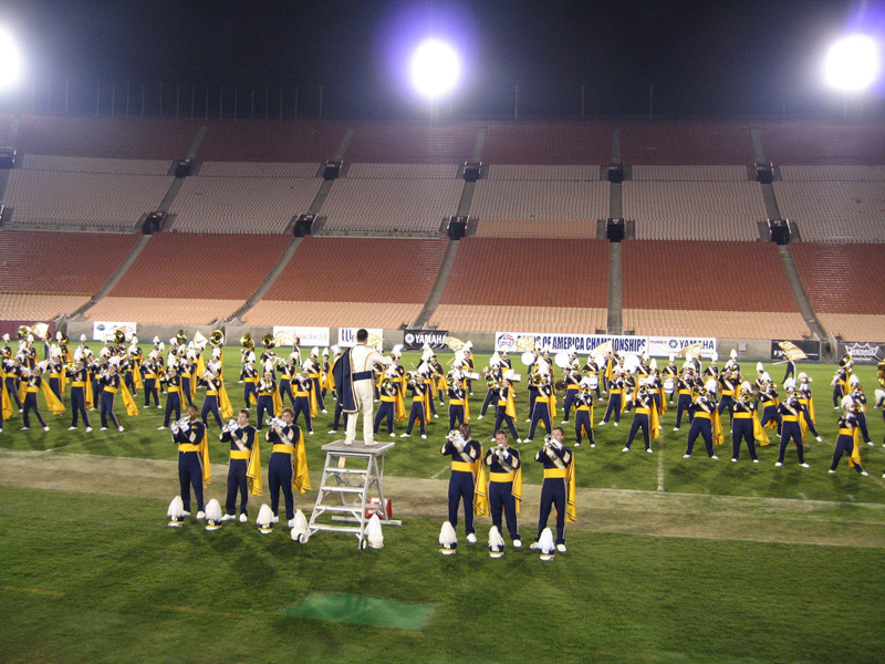
[[[577,520],[575,510],[574,456],[572,450],[562,444],[565,433],[561,426],[553,428],[544,438],[544,445],[534,455],[534,460],[544,465],[544,483],[541,485],[541,511],[538,518],[538,537],[530,549],[539,549],[539,540],[550,509],[556,506],[556,550],[565,552],[565,521]]]

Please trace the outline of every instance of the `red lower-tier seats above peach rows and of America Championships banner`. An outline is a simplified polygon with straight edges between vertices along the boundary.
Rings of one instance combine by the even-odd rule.
[[[605,309],[608,242],[465,238],[439,303]]]

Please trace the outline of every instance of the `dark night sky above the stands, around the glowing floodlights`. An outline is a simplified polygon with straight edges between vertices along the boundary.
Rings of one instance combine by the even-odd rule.
[[[870,29],[877,14],[885,18],[884,7],[885,0],[8,0],[0,24],[24,52],[25,87],[236,85],[243,95],[257,90],[263,104],[267,91],[278,95],[283,86],[288,105],[298,87],[299,115],[310,116],[323,85],[326,115],[420,115],[426,104],[412,98],[403,61],[419,35],[436,34],[457,42],[465,60],[466,77],[451,98],[458,117],[512,115],[516,85],[525,116],[580,115],[582,85],[590,116],[647,116],[652,85],[657,117],[825,116],[841,107],[820,82],[825,45],[851,25]]]

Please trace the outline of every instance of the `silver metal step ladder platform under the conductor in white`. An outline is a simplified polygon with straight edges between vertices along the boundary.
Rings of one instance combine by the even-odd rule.
[[[345,445],[344,440],[323,445],[323,478],[308,531],[301,536],[302,543],[320,531],[350,532],[356,536],[362,550],[366,548],[366,526],[373,513],[378,515],[383,526],[403,523],[387,517],[382,489],[384,455],[394,446],[394,443],[367,446],[362,440],[354,440],[353,445]],[[377,497],[377,504],[371,501],[373,497]]]

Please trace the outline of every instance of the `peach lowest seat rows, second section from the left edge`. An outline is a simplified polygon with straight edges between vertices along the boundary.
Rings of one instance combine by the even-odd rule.
[[[139,323],[176,323],[207,325],[226,319],[242,305],[242,300],[197,298],[116,298],[98,300],[83,314],[87,321],[135,321]]]

